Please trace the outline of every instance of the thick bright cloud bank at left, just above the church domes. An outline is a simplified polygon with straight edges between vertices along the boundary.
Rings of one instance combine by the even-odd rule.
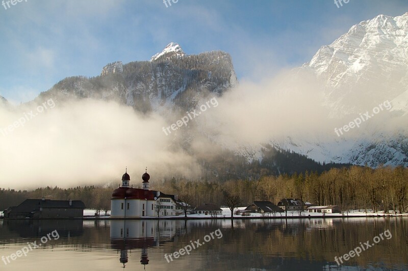
[[[157,115],[141,116],[110,102],[55,104],[41,113],[34,104],[0,108],[0,187],[119,182],[125,166],[135,185],[146,166],[150,173],[169,175],[199,170],[182,150],[168,148],[171,139],[161,131],[164,121]],[[37,115],[23,127],[2,134],[31,111]]]

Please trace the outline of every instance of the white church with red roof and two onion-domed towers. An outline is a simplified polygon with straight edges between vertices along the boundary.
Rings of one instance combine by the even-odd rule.
[[[142,189],[130,186],[131,177],[126,172],[122,176],[122,186],[112,193],[111,218],[140,218],[175,216],[176,195],[166,195],[160,191],[149,190],[150,175],[142,175]]]

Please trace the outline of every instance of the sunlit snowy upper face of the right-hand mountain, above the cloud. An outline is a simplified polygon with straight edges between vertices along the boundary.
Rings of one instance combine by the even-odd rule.
[[[321,47],[303,68],[314,70],[326,84],[330,117],[359,113],[368,102],[394,99],[408,85],[408,13],[378,15],[352,26]]]

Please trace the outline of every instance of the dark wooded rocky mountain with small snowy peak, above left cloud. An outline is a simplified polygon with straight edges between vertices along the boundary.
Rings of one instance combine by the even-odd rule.
[[[141,112],[186,111],[210,93],[222,95],[238,83],[232,58],[222,51],[187,55],[170,43],[150,61],[106,65],[99,76],[68,77],[41,93],[42,100],[113,100]]]

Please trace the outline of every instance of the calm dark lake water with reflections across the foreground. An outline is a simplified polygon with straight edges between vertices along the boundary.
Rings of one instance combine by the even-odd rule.
[[[335,256],[374,243],[386,230],[392,237],[337,265]],[[195,241],[201,246],[190,255],[167,262],[165,254]],[[41,246],[30,250],[34,242]],[[408,270],[408,218],[0,220],[1,256],[7,265],[0,261],[0,270],[17,271]]]

